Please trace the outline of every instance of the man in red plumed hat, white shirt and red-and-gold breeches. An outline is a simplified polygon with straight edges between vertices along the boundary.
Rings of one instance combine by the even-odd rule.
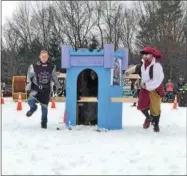
[[[126,74],[136,73],[141,76],[137,108],[145,115],[143,128],[149,128],[152,122],[154,131],[159,132],[161,97],[165,96],[164,72],[158,62],[162,55],[152,47],[145,47],[140,53],[142,54],[141,63],[129,68]]]

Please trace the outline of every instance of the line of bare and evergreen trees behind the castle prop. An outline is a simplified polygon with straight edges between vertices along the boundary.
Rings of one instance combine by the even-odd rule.
[[[129,64],[140,61],[139,51],[151,45],[162,51],[166,80],[187,75],[187,2],[121,1],[21,2],[2,27],[1,80],[25,75],[45,48],[60,68],[60,48],[129,49]],[[186,77],[187,78],[187,77]]]

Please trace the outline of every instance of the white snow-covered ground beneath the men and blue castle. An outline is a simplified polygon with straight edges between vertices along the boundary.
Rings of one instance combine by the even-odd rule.
[[[123,107],[123,130],[98,133],[93,127],[56,131],[64,103],[49,108],[48,129],[40,128],[40,109],[30,118],[5,99],[2,107],[2,174],[63,175],[186,174],[186,108],[162,104],[161,132],[142,129],[144,117]]]

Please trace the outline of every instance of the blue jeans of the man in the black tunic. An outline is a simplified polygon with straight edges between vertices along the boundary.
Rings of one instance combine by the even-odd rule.
[[[28,104],[30,106],[30,112],[34,113],[37,110],[36,103],[37,103],[37,101],[35,99],[28,100]],[[41,111],[42,111],[41,124],[46,125],[47,124],[48,108],[41,105]]]

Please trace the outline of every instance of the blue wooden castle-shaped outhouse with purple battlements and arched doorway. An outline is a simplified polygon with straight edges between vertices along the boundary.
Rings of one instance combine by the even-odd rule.
[[[77,125],[77,79],[86,70],[93,70],[98,77],[97,126],[105,129],[122,128],[122,103],[111,102],[111,97],[122,96],[122,71],[128,66],[128,49],[114,51],[112,44],[90,52],[88,49],[61,48],[61,67],[66,69],[66,123]],[[87,101],[87,100],[86,100]],[[88,101],[89,102],[89,98]],[[92,103],[92,102],[90,102]]]

